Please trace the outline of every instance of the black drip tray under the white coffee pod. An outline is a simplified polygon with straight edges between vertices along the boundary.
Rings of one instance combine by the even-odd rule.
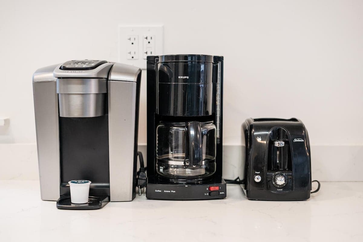
[[[70,196],[61,196],[57,201],[57,208],[59,209],[100,209],[103,208],[110,198],[108,196],[88,197],[86,204],[74,204],[70,201]]]

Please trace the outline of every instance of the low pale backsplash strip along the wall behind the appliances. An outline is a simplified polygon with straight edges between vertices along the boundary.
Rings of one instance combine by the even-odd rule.
[[[146,144],[139,145],[146,163]],[[243,169],[244,146],[224,145],[223,176],[234,179]],[[312,145],[311,172],[320,181],[363,181],[363,145]],[[37,180],[36,144],[0,144],[1,180]]]

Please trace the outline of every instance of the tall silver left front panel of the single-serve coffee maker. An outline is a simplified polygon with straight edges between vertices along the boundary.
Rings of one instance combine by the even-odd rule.
[[[38,77],[36,76],[36,79],[40,80]],[[42,200],[56,201],[60,197],[58,97],[56,93],[56,81],[33,82],[33,94],[40,196]]]

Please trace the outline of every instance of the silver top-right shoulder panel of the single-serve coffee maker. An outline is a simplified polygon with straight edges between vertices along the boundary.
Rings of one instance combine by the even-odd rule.
[[[141,69],[139,67],[114,63],[110,70],[110,81],[136,82]]]

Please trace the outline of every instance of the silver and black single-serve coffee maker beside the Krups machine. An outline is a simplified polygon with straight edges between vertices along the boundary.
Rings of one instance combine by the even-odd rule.
[[[138,67],[101,60],[34,73],[42,200],[61,209],[97,209],[135,197],[140,80]],[[88,203],[71,203],[72,180],[91,181]]]

